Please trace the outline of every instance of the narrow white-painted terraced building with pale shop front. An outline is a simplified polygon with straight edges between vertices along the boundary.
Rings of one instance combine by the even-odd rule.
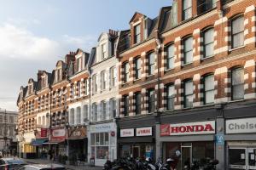
[[[118,116],[118,32],[102,33],[90,54],[90,126],[88,159],[95,158],[96,166],[117,157]]]

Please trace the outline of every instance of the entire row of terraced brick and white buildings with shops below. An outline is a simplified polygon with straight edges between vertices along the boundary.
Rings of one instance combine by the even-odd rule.
[[[20,156],[256,168],[256,2],[174,0],[20,88]]]

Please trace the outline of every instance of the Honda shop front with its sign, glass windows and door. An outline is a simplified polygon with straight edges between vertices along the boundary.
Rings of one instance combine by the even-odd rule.
[[[215,121],[160,125],[160,144],[165,161],[177,161],[177,170],[192,163],[215,159]]]

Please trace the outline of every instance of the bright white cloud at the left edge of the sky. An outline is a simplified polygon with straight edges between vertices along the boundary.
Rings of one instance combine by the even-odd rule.
[[[61,51],[58,42],[7,23],[0,26],[0,37],[0,58],[42,60]]]

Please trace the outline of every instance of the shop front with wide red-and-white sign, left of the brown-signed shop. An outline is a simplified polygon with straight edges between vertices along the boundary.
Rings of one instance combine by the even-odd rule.
[[[65,156],[67,154],[67,133],[65,128],[55,128],[50,130],[50,150],[55,158],[58,159],[59,156]]]

